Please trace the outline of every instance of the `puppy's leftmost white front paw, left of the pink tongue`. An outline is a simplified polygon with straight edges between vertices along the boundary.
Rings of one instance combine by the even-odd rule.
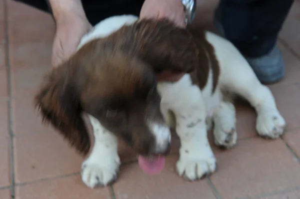
[[[120,160],[88,158],[81,166],[82,182],[89,188],[104,187],[113,183],[118,174]]]

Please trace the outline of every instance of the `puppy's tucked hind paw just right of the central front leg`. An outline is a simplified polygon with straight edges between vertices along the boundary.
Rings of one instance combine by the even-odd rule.
[[[219,126],[214,126],[213,129],[214,144],[218,147],[230,149],[236,145],[237,133],[234,127],[224,129]]]

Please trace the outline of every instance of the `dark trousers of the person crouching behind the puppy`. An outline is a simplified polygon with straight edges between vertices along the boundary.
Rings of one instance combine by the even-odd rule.
[[[49,11],[46,0],[17,0]],[[91,24],[117,14],[139,15],[144,0],[82,0]],[[261,56],[276,43],[293,0],[220,0],[225,36],[244,55]]]

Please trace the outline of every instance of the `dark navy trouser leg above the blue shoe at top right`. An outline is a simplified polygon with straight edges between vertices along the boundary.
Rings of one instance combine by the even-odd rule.
[[[293,0],[220,0],[217,12],[225,36],[244,55],[266,54],[278,33]]]

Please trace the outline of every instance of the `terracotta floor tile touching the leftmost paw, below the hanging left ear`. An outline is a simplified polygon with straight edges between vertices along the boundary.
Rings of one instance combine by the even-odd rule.
[[[83,159],[58,133],[16,136],[14,143],[16,183],[80,172]]]

